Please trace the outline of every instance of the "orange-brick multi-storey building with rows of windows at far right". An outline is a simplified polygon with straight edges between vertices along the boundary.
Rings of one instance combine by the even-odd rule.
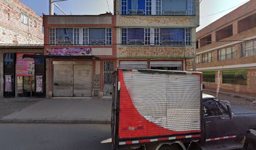
[[[256,96],[255,8],[256,1],[248,1],[196,32],[196,59],[188,70],[204,73],[206,89],[216,90],[219,79],[220,91]]]

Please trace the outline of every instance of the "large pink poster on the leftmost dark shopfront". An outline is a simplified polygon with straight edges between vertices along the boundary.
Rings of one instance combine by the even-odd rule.
[[[17,53],[16,76],[34,76],[35,60],[33,58],[23,58],[23,54],[33,53]]]

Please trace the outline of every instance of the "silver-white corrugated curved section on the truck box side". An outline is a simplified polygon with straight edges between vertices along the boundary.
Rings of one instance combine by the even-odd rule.
[[[124,72],[137,111],[171,131],[200,130],[200,76]],[[122,113],[122,112],[121,112]]]

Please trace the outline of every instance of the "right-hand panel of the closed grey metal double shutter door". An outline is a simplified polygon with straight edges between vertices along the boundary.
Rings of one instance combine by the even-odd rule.
[[[92,65],[73,65],[73,96],[90,97],[92,95]]]

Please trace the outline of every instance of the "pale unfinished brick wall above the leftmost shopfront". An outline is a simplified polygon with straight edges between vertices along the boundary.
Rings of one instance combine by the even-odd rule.
[[[29,17],[28,25],[21,13]],[[42,18],[20,1],[0,1],[0,16],[0,44],[43,44]]]

